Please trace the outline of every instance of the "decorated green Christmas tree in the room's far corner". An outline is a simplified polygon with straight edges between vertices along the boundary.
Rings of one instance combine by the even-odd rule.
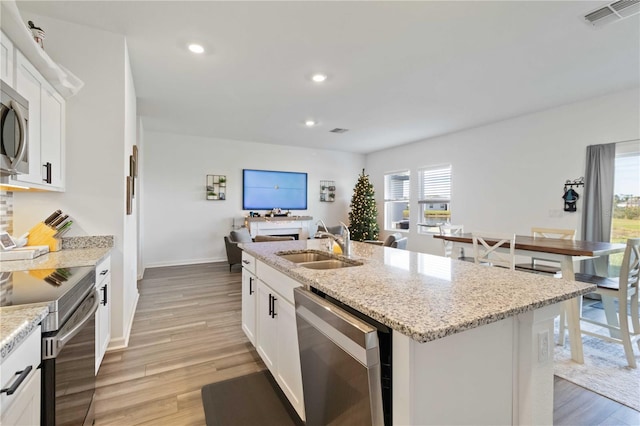
[[[358,182],[353,190],[351,198],[351,211],[349,212],[349,232],[354,241],[377,240],[378,209],[376,207],[375,191],[369,182],[369,175],[358,176]]]

